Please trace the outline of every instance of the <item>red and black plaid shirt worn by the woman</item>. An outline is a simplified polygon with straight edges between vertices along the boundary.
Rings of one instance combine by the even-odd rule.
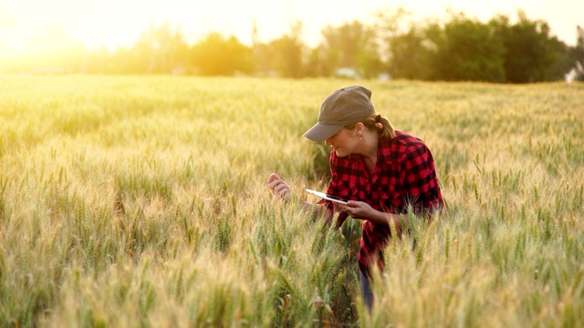
[[[328,195],[364,201],[375,210],[405,214],[412,206],[414,213],[426,216],[443,208],[432,153],[421,139],[405,132],[396,131],[395,138],[379,140],[372,177],[360,155],[339,158],[334,151],[330,152],[330,172]],[[333,202],[320,200],[319,203],[333,213]],[[337,226],[347,217],[346,212],[341,212]],[[382,251],[391,233],[387,225],[369,220],[363,220],[362,227],[358,260],[360,271],[368,275],[369,266],[374,262],[383,269]]]

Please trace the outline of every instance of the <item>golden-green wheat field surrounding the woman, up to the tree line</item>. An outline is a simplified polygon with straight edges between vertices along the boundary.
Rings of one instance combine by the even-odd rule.
[[[296,201],[327,184],[302,133],[354,83],[447,205],[391,241],[371,313],[360,221]],[[584,326],[584,84],[3,76],[0,127],[2,326]]]

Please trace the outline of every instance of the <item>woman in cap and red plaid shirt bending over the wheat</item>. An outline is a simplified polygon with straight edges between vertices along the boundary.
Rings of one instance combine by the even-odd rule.
[[[316,207],[328,220],[340,210],[337,227],[349,216],[363,220],[358,261],[369,310],[370,266],[383,270],[382,251],[391,235],[407,231],[408,211],[430,220],[443,208],[430,150],[421,139],[394,130],[387,118],[375,113],[370,97],[371,91],[362,86],[335,90],[323,101],[318,123],[304,134],[332,147],[327,194],[348,200],[340,206],[330,200],[307,206]],[[275,195],[290,199],[290,187],[276,173],[267,182]]]

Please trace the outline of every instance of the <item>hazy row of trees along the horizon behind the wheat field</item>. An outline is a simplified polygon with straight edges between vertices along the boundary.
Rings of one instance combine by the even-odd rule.
[[[398,9],[379,11],[372,23],[326,26],[322,40],[310,47],[302,23],[263,43],[252,32],[252,45],[213,32],[190,45],[169,24],[151,27],[129,47],[114,51],[82,46],[47,54],[36,67],[61,67],[85,74],[185,74],[199,76],[360,77],[429,81],[531,83],[584,80],[584,29],[576,46],[553,36],[547,22],[523,12],[512,23],[506,15],[481,22],[463,13],[446,19],[424,18]],[[21,60],[4,70],[33,67]]]

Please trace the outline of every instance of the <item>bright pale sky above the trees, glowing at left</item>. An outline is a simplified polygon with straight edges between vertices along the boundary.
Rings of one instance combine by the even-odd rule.
[[[0,0],[0,50],[17,49],[33,36],[58,27],[89,48],[131,46],[149,27],[168,23],[189,43],[210,32],[251,44],[252,26],[268,42],[302,22],[303,41],[316,46],[320,30],[402,6],[413,19],[441,17],[447,9],[486,22],[495,15],[516,20],[518,9],[530,20],[547,21],[551,33],[576,45],[584,26],[584,0]]]

